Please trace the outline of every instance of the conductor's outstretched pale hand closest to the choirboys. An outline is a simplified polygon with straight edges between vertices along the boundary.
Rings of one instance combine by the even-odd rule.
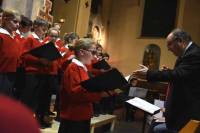
[[[139,66],[140,69],[134,71],[132,76],[135,76],[138,79],[146,79],[147,71],[149,70],[149,68],[142,64],[139,64]]]

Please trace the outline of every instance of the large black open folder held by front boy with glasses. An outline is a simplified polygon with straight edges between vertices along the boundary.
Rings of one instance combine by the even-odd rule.
[[[90,92],[100,92],[123,88],[128,85],[117,69],[112,69],[96,77],[81,82],[81,86]]]

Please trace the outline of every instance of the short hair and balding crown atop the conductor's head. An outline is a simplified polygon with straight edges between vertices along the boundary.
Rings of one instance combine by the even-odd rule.
[[[177,42],[186,42],[188,44],[192,41],[191,36],[181,29],[174,29],[171,33],[173,34],[174,40]]]

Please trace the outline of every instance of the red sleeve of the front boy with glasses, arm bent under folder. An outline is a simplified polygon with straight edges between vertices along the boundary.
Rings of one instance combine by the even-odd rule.
[[[73,101],[73,103],[99,101],[101,97],[98,93],[87,92],[80,86],[80,74],[81,71],[70,68],[64,73],[64,90],[68,93],[70,101]]]

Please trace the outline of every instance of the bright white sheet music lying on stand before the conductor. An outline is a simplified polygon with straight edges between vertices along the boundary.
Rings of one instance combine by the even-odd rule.
[[[139,109],[142,109],[150,114],[154,114],[156,111],[160,110],[159,107],[141,99],[141,98],[138,98],[138,97],[135,97],[133,99],[130,99],[128,101],[126,101],[127,103],[139,108]]]

